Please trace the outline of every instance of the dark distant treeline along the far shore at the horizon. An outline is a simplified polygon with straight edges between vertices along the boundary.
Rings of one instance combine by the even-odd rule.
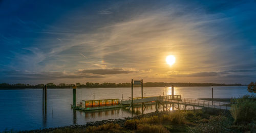
[[[131,83],[90,83],[87,82],[86,84],[65,84],[61,83],[55,85],[53,83],[48,83],[46,86],[48,88],[71,88],[72,86],[76,85],[78,88],[115,88],[115,87],[131,87]],[[163,83],[163,82],[147,82],[143,83],[143,87],[170,87],[174,85],[175,87],[207,87],[207,86],[243,86],[242,84],[215,84],[215,83]],[[29,84],[7,84],[2,83],[0,84],[0,89],[24,89],[24,88],[42,88],[44,84],[38,85],[29,85]],[[137,86],[135,86],[137,87]]]

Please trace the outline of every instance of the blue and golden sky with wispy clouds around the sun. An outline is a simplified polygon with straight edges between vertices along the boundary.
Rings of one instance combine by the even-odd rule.
[[[0,83],[248,84],[255,16],[249,0],[0,0]]]

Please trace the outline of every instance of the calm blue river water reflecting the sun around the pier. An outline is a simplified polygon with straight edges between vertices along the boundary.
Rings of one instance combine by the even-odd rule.
[[[239,97],[249,94],[247,87],[214,87],[214,98]],[[143,88],[146,96],[163,95],[165,88]],[[95,112],[73,111],[72,89],[48,89],[47,116],[42,116],[42,90],[0,90],[0,131],[5,129],[30,130],[37,128],[48,128],[67,126],[73,124],[86,124],[90,121],[103,119],[115,119],[131,116],[125,109],[104,110]],[[95,88],[77,89],[77,101],[80,99],[119,98],[131,97],[131,88]],[[167,94],[172,94],[171,88],[167,88]],[[185,98],[210,98],[210,87],[175,87],[174,94],[180,94]],[[144,95],[144,94],[143,94]],[[140,88],[134,88],[134,97],[140,97]],[[140,111],[140,108],[136,108]],[[154,105],[147,106],[146,111],[154,112]]]

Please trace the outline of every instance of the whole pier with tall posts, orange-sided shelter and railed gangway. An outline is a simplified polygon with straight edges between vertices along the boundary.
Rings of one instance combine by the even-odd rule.
[[[167,95],[167,90],[165,86],[165,96],[152,96],[152,97],[143,97],[143,79],[141,80],[133,80],[131,82],[131,98],[126,100],[119,99],[99,99],[99,100],[82,100],[80,102],[76,102],[76,86],[73,87],[73,109],[78,109],[82,111],[93,111],[93,110],[103,110],[103,109],[113,109],[113,108],[124,108],[129,107],[128,109],[141,105],[145,107],[145,104],[156,104],[156,111],[158,111],[160,105],[162,105],[162,109],[172,110],[177,108],[180,110],[180,105],[184,105],[184,110],[186,110],[187,106],[199,108],[210,108],[210,109],[222,109],[222,110],[230,110],[230,107],[227,107],[229,102],[216,102],[216,101],[208,101],[208,100],[200,100],[200,99],[192,99],[192,98],[182,98],[181,95],[174,95],[174,86],[172,85],[172,95]],[[141,97],[133,97],[133,87],[134,85],[141,86]],[[211,88],[212,99],[213,99],[213,88]],[[167,108],[169,105],[169,109]],[[142,109],[143,112],[144,109]]]

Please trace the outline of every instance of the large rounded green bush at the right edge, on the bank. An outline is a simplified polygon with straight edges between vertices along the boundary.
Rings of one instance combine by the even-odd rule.
[[[245,95],[234,100],[230,113],[234,118],[234,123],[249,123],[256,119],[256,97]]]

